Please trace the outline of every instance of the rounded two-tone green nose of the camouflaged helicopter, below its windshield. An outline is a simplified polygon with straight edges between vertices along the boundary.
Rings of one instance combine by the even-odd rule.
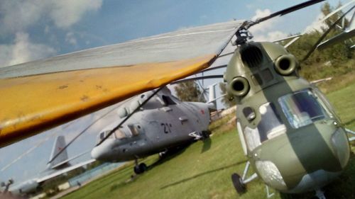
[[[275,153],[284,158],[273,161],[283,172],[288,193],[322,188],[339,176],[349,160],[346,135],[330,122],[308,125],[284,143],[288,144]]]

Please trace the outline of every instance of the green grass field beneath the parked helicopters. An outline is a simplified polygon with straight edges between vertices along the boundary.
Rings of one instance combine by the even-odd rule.
[[[329,93],[329,99],[346,127],[355,130],[355,83]],[[64,198],[266,198],[265,186],[260,180],[247,185],[244,195],[237,195],[230,175],[241,174],[244,157],[233,126],[224,125],[229,118],[212,125],[214,135],[204,142],[196,142],[177,154],[161,161],[158,156],[148,157],[148,172],[128,181],[132,165],[115,171]],[[353,148],[354,152],[354,148]],[[355,157],[339,179],[327,186],[327,198],[355,198]],[[285,195],[275,193],[273,198],[312,198],[313,193]]]

